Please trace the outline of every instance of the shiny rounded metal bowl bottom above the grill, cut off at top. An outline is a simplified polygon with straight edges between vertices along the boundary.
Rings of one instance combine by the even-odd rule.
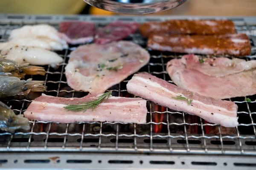
[[[180,6],[187,0],[84,0],[107,11],[123,14],[151,14]]]

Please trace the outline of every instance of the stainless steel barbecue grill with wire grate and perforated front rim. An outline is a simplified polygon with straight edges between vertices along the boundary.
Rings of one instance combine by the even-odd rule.
[[[94,17],[94,16],[34,16],[0,14],[0,42],[5,42],[12,29],[24,25],[47,23],[58,28],[65,20],[95,22],[105,26],[114,20],[163,21],[171,19],[209,19],[233,20],[238,33],[250,37],[252,51],[244,59],[252,60],[256,56],[256,17]],[[131,34],[129,40],[146,48],[146,40],[139,32]],[[77,46],[58,51],[65,63],[57,69],[46,66],[45,76],[26,76],[34,80],[44,80],[47,95],[81,97],[87,93],[68,88],[64,74],[69,54]],[[172,83],[166,72],[166,63],[181,54],[150,51],[151,59],[139,72],[147,71]],[[129,76],[113,86],[113,96],[129,96],[126,84]],[[16,114],[23,114],[29,103],[38,94],[10,100]],[[250,97],[252,102],[244,101]],[[256,95],[229,99],[238,108],[239,125],[224,128],[205,122],[198,116],[172,111],[147,102],[147,123],[137,125],[122,122],[82,122],[58,124],[52,122],[31,121],[31,130],[15,133],[0,132],[1,168],[81,168],[88,169],[241,169],[255,168],[256,162]]]

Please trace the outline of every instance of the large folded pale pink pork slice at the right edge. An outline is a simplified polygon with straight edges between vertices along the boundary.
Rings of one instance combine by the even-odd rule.
[[[239,68],[241,65],[238,63],[238,65],[234,66],[234,73],[232,73],[232,66],[221,68],[218,65],[216,67],[212,65],[215,68],[204,73],[207,70],[207,64],[202,63],[202,68],[198,68],[200,65],[194,65],[195,67],[193,67],[193,65],[189,64],[188,68],[186,68],[186,62],[183,62],[186,57],[188,56],[184,56],[183,59],[172,59],[166,66],[166,71],[177,86],[215,99],[256,94],[256,69],[245,71],[247,70],[246,66],[245,68]],[[221,58],[219,60],[221,61]],[[255,62],[245,62],[244,64],[248,64],[247,66],[251,67],[251,65],[255,65]]]

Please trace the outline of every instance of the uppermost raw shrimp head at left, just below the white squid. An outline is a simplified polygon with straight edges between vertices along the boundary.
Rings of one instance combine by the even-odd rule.
[[[45,75],[43,67],[32,66],[29,63],[18,64],[11,59],[0,58],[0,72],[11,73],[10,76],[24,78],[26,74],[29,75]]]

